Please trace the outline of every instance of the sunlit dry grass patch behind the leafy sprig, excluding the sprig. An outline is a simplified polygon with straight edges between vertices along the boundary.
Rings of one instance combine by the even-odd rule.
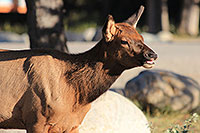
[[[147,115],[147,119],[152,128],[152,133],[164,133],[167,129],[172,128],[175,125],[183,126],[185,120],[190,117],[191,114],[189,113],[158,114],[156,116]],[[194,125],[190,127],[189,133],[200,133],[200,121],[194,123]]]

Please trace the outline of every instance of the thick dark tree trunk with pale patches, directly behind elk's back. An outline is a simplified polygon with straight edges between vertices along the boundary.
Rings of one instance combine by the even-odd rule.
[[[31,48],[68,52],[63,26],[62,0],[26,0]]]

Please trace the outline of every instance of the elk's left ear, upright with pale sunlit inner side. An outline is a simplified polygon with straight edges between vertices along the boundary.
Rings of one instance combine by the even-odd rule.
[[[115,21],[112,15],[108,15],[107,20],[103,26],[102,34],[106,42],[110,42],[114,39],[116,32]]]

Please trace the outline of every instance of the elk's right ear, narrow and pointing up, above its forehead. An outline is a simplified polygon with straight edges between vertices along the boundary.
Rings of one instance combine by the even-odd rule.
[[[136,28],[137,23],[142,16],[142,13],[144,11],[144,6],[140,6],[140,9],[137,13],[134,13],[130,18],[128,18],[125,22],[131,24],[134,28]]]

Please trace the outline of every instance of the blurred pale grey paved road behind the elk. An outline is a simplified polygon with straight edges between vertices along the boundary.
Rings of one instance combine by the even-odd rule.
[[[80,53],[93,47],[96,42],[68,42],[71,53]],[[158,53],[153,69],[164,69],[189,76],[200,84],[200,41],[176,41],[148,43]],[[27,44],[0,43],[2,49],[29,49]],[[126,82],[146,70],[142,67],[125,71],[111,88],[124,88]]]

